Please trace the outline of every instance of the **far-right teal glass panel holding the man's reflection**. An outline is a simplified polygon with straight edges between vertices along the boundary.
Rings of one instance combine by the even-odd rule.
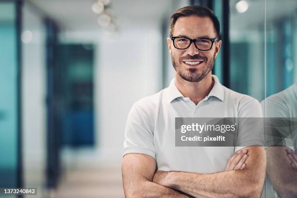
[[[267,198],[297,197],[296,10],[296,0],[266,0]]]

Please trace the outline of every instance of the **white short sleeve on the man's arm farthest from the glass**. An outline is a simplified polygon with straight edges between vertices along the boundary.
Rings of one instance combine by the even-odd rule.
[[[123,156],[128,153],[143,153],[156,159],[153,126],[137,104],[132,106],[126,123]]]

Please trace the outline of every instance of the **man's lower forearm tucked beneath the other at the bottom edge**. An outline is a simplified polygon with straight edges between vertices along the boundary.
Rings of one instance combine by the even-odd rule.
[[[135,182],[131,187],[125,188],[127,198],[189,198],[174,189],[159,185],[151,181]]]

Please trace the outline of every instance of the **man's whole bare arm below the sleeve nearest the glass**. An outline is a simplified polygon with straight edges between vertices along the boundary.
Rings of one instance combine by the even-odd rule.
[[[157,171],[153,181],[198,198],[259,198],[265,179],[265,151],[262,147],[246,149],[249,156],[243,170],[213,174]]]

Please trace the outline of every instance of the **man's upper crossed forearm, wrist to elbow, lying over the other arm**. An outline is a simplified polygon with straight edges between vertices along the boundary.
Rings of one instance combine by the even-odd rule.
[[[203,198],[259,198],[265,172],[252,177],[248,170],[224,171],[214,174],[168,172],[168,186],[193,197]]]

